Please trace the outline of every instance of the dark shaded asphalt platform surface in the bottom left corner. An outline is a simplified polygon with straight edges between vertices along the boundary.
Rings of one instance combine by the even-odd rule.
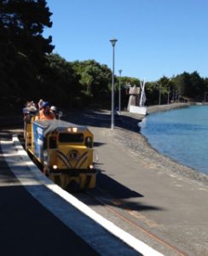
[[[11,139],[0,133],[1,140]],[[1,256],[99,255],[26,191],[1,149],[0,230]]]

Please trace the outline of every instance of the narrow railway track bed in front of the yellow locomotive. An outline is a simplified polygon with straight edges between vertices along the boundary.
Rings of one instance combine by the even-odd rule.
[[[182,250],[153,234],[153,232],[144,228],[142,224],[139,224],[143,218],[142,214],[125,205],[123,201],[113,199],[107,191],[96,188],[94,190],[85,191],[84,193],[74,194],[74,196],[77,197],[79,201],[83,201],[91,207],[95,212],[104,215],[105,218],[108,218],[114,224],[129,232],[130,235],[144,240],[144,242],[151,241],[150,246],[161,253],[165,252],[165,255],[170,256],[187,256]],[[146,222],[150,227],[154,225],[147,219],[143,219],[142,221]],[[141,239],[141,237],[143,239]],[[162,251],[159,250],[159,248],[162,248]]]

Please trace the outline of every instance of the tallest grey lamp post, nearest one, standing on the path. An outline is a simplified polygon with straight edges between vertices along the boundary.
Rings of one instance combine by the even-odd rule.
[[[112,102],[111,102],[111,129],[114,129],[114,62],[115,62],[115,45],[118,40],[113,38],[110,40],[113,46],[113,72],[112,72]]]

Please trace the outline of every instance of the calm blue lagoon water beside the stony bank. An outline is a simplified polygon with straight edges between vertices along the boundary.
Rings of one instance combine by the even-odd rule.
[[[151,113],[140,127],[159,153],[208,174],[208,106]]]

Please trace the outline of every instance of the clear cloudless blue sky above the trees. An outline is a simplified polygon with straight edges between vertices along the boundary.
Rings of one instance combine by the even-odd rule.
[[[54,53],[95,60],[146,81],[197,71],[208,77],[208,0],[46,0]]]

